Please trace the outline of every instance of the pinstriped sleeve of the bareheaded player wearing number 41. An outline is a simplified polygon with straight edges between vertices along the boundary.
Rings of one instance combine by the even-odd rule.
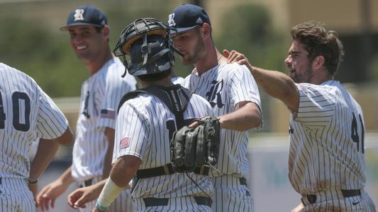
[[[329,122],[335,114],[335,89],[308,83],[296,84],[299,90],[299,110],[294,115],[296,122],[314,124]]]

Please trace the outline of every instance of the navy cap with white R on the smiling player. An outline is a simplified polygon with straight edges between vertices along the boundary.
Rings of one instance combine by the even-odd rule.
[[[105,14],[95,6],[85,5],[75,8],[67,18],[67,25],[60,28],[60,30],[68,30],[71,25],[93,25],[103,28],[108,24],[108,19]]]

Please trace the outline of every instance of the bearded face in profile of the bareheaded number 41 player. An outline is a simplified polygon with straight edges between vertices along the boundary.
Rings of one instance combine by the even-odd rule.
[[[289,49],[289,56],[284,62],[289,69],[290,78],[295,83],[311,83],[313,70],[304,45],[294,40]]]

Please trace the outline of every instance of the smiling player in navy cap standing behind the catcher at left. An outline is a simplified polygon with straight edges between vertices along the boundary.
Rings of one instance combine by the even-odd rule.
[[[125,67],[109,48],[107,18],[98,8],[75,8],[61,30],[70,33],[72,49],[91,76],[82,83],[72,166],[40,192],[38,201],[42,208],[53,205],[55,198],[74,181],[79,187],[88,187],[109,176],[116,109],[122,95],[134,90],[136,84],[130,74],[121,77]],[[90,204],[80,211],[90,211],[95,201]],[[130,211],[130,193],[123,192],[113,206],[114,211]]]

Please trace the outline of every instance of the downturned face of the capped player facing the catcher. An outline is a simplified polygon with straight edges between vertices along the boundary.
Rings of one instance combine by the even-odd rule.
[[[184,65],[195,64],[206,54],[205,43],[199,34],[198,28],[177,33],[172,40],[174,47],[184,54],[183,57],[180,57]]]

